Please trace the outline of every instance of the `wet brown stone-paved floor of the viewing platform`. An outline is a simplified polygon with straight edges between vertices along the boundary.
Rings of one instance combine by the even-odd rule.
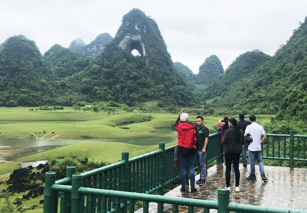
[[[256,165],[257,180],[246,180],[250,173],[250,167],[239,165],[240,170],[240,192],[235,192],[235,173],[231,171],[230,182],[230,202],[248,204],[255,206],[286,208],[307,211],[307,169],[289,167],[264,166],[268,182],[261,180],[259,167]],[[180,187],[169,191],[165,196],[186,197],[194,199],[215,200],[217,201],[217,189],[226,187],[225,182],[225,165],[215,165],[208,169],[206,185],[199,186],[196,184],[197,192],[191,193],[190,188],[186,187],[189,192],[180,192]],[[199,175],[196,176],[199,179]],[[139,209],[135,212],[143,212]],[[149,204],[149,212],[157,212],[157,203]],[[172,212],[172,205],[164,204],[163,212]],[[187,207],[179,206],[179,212],[188,212]],[[194,212],[203,212],[201,208],[194,208]],[[210,212],[217,212],[211,209]]]

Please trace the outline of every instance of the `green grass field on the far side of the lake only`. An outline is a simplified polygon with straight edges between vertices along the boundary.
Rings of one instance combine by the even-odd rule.
[[[121,138],[138,136],[166,136],[155,133],[157,128],[171,128],[178,115],[159,113],[127,113],[117,110],[115,115],[107,112],[75,111],[29,111],[29,108],[0,108],[1,137],[31,138],[32,133],[55,132],[45,138]],[[218,117],[206,117],[205,125],[215,132]],[[150,121],[148,121],[150,120]],[[190,116],[191,121],[196,116]],[[132,123],[132,124],[131,124]],[[113,127],[115,126],[115,128]],[[123,129],[129,128],[129,129]],[[31,133],[32,132],[32,133]],[[38,135],[37,135],[38,136]],[[38,137],[43,136],[43,134]],[[56,137],[55,137],[56,136]],[[35,136],[32,136],[35,138]]]

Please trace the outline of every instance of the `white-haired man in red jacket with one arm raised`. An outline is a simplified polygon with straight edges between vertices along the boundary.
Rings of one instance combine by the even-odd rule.
[[[187,166],[190,174],[191,192],[197,191],[194,172],[195,153],[197,152],[195,128],[195,125],[188,121],[188,114],[185,113],[185,108],[181,109],[175,124],[175,129],[178,132],[181,192],[185,192],[185,169]]]

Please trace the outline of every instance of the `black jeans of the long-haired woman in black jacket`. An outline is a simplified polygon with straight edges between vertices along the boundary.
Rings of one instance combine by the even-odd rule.
[[[239,186],[240,183],[240,171],[239,171],[240,153],[225,153],[226,161],[226,187],[230,187],[230,172],[231,162],[233,162],[233,168],[235,170],[235,186]]]

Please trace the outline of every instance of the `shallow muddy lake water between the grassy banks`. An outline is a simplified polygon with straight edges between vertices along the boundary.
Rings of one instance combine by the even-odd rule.
[[[11,160],[16,156],[25,154],[44,152],[57,147],[88,143],[88,142],[121,142],[142,146],[157,145],[159,142],[170,143],[177,141],[177,132],[170,129],[162,129],[157,133],[171,133],[174,137],[161,137],[161,136],[144,136],[133,138],[114,138],[114,139],[74,139],[74,140],[39,140],[39,139],[24,139],[24,138],[0,138],[0,156],[5,160]],[[175,134],[176,133],[176,134]]]

